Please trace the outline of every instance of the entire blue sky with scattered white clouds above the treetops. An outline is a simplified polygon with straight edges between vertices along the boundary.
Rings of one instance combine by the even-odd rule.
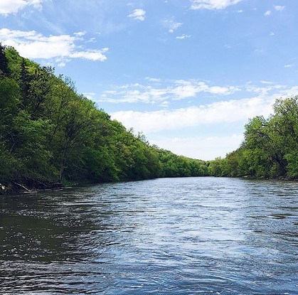
[[[0,41],[151,144],[196,159],[298,93],[295,0],[1,0]]]

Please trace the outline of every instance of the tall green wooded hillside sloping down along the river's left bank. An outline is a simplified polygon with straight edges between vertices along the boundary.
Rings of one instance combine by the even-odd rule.
[[[0,188],[206,176],[208,163],[151,146],[54,75],[0,43]],[[1,191],[1,189],[0,189]],[[1,192],[0,192],[1,193]]]

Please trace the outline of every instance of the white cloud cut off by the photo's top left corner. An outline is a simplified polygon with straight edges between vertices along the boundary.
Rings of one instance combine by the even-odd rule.
[[[26,6],[33,6],[35,9],[41,9],[43,0],[1,0],[0,14],[16,14]]]

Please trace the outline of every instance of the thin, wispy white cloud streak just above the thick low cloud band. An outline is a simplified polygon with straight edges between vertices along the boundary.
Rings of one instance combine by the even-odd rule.
[[[149,80],[149,79],[147,79]],[[149,82],[161,82],[161,80],[149,80]],[[167,86],[154,85],[122,85],[115,87],[115,91],[103,92],[100,102],[144,102],[161,103],[166,100],[183,100],[196,97],[198,93],[205,92],[211,95],[230,95],[240,89],[235,86],[208,85],[200,80],[174,80],[167,81]]]

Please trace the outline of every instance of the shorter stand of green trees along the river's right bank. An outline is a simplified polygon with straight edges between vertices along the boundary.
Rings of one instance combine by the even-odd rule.
[[[298,96],[277,99],[273,109],[268,119],[250,119],[240,148],[211,161],[211,175],[298,178]]]

